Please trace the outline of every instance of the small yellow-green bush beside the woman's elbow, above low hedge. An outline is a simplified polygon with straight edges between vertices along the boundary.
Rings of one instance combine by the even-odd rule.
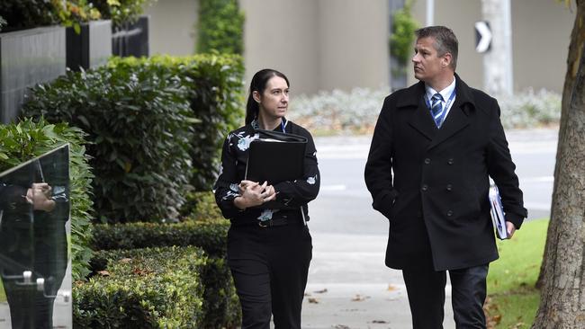
[[[212,191],[190,191],[185,199],[183,207],[179,210],[182,218],[190,220],[223,218]]]

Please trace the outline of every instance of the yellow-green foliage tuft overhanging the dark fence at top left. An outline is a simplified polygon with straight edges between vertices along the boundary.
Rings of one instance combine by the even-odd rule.
[[[115,27],[138,21],[144,7],[152,1],[156,0],[89,0]]]

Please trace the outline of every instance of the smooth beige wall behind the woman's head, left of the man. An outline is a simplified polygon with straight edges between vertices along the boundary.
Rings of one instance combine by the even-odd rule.
[[[386,0],[240,0],[247,81],[272,67],[293,93],[389,84]]]

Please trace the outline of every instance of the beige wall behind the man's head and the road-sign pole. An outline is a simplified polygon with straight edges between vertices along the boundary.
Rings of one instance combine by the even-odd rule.
[[[417,0],[413,15],[422,25],[425,0]],[[455,8],[455,10],[454,10]],[[474,22],[482,21],[481,0],[435,0],[435,25],[450,27],[459,40],[457,73],[483,89],[483,58],[475,51]],[[574,11],[552,0],[512,0],[512,66],[516,92],[534,87],[563,90]],[[409,83],[416,82],[412,67]]]

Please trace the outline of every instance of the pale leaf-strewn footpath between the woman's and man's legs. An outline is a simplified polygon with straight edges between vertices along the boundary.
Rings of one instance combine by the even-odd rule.
[[[303,302],[302,327],[410,328],[401,271],[383,264],[385,236],[313,233],[313,261]],[[446,289],[450,305],[450,289]],[[445,328],[455,328],[446,307]]]

